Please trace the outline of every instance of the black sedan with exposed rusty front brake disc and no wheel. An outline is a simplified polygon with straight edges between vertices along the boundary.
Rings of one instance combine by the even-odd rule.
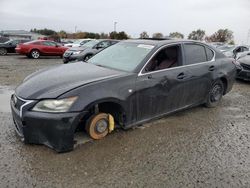
[[[11,97],[17,133],[25,143],[58,152],[73,149],[85,129],[101,139],[169,113],[215,107],[233,86],[236,66],[200,42],[127,40],[89,59],[27,77]]]

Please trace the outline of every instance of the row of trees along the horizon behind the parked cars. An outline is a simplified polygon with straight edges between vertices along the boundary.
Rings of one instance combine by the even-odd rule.
[[[53,38],[61,38],[61,39],[83,39],[83,38],[95,38],[95,39],[118,39],[118,40],[123,40],[123,39],[129,39],[131,38],[125,31],[121,32],[110,32],[110,33],[93,33],[93,32],[76,32],[76,33],[68,33],[64,30],[61,30],[59,32],[56,32],[51,29],[31,29],[31,32],[34,33],[39,33],[42,35],[50,36]],[[165,36],[160,33],[154,33],[152,35],[152,38],[164,38]],[[171,32],[169,33],[168,37],[170,38],[175,38],[175,39],[184,39],[184,34],[180,32]],[[146,31],[143,31],[139,38],[150,38],[148,33]],[[233,32],[229,29],[219,29],[216,31],[214,34],[208,36],[206,35],[205,30],[202,29],[197,29],[192,31],[188,36],[188,39],[190,40],[199,40],[199,41],[206,41],[206,42],[224,42],[224,43],[230,43],[234,44],[234,36]]]

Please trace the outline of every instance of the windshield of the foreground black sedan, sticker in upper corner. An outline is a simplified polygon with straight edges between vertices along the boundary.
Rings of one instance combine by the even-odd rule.
[[[133,72],[153,48],[152,45],[118,43],[96,54],[88,62],[112,69]]]

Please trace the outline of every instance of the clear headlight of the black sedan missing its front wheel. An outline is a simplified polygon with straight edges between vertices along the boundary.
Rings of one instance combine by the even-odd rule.
[[[67,112],[74,104],[78,97],[70,97],[66,99],[47,99],[38,102],[33,111],[37,112]]]

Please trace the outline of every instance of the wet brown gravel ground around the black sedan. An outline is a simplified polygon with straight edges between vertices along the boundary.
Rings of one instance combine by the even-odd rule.
[[[0,56],[0,102],[28,74],[60,63]],[[237,81],[217,108],[185,110],[57,154],[24,145],[0,108],[0,187],[250,187],[249,122],[250,83]]]

